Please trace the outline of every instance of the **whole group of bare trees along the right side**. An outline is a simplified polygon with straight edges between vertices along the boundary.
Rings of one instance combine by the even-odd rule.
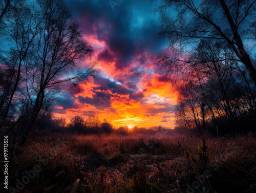
[[[163,2],[158,65],[179,92],[177,130],[256,131],[255,1]]]

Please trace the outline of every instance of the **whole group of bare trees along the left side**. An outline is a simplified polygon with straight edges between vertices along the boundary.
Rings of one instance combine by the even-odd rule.
[[[62,0],[6,0],[0,11],[0,127],[17,121],[23,143],[61,94],[94,76],[93,50]]]

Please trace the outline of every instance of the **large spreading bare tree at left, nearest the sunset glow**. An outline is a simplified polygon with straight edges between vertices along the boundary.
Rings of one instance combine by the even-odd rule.
[[[46,98],[60,87],[77,84],[94,76],[94,65],[87,64],[86,58],[92,47],[84,40],[80,25],[72,18],[71,10],[62,0],[38,1],[40,33],[36,37],[36,53],[25,66],[30,77],[27,93],[33,110],[24,135],[26,140]],[[68,85],[69,84],[69,85]],[[35,99],[33,99],[35,98]],[[50,100],[51,100],[50,99]]]

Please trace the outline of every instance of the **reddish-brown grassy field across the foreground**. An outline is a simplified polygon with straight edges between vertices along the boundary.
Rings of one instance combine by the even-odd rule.
[[[15,148],[9,190],[255,192],[255,136],[205,144],[201,138],[166,135],[32,137]]]

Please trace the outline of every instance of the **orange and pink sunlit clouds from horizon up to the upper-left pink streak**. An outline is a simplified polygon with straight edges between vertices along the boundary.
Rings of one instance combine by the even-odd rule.
[[[98,82],[93,78],[87,84],[80,82],[80,90],[71,97],[72,104],[56,106],[55,116],[65,117],[69,122],[73,116],[86,119],[93,114],[100,120],[109,120],[115,127],[126,125],[131,129],[136,125],[161,125],[174,128],[177,92],[172,84],[164,81],[163,75],[158,74],[155,56],[141,53],[124,67],[117,68],[116,55],[104,40],[98,40],[96,35],[87,36],[87,40],[94,49],[91,60],[97,61],[100,76],[109,82]],[[108,57],[99,58],[102,52],[106,52]],[[135,79],[134,82],[130,77]],[[120,84],[122,90],[108,88],[110,81],[113,85]]]

